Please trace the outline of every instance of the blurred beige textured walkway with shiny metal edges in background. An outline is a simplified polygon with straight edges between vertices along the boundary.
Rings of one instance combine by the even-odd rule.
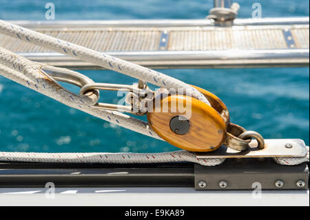
[[[13,21],[87,48],[151,68],[309,66],[309,17],[201,20]],[[98,68],[0,34],[0,46],[34,61]]]

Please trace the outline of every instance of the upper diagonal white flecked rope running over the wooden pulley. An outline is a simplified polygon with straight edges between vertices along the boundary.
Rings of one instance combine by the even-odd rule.
[[[160,86],[161,88],[190,89],[192,90],[193,97],[210,105],[209,101],[205,98],[205,96],[203,96],[203,94],[198,92],[198,90],[183,81],[169,77],[161,72],[157,72],[149,68],[91,50],[89,48],[84,48],[83,46],[78,46],[74,43],[56,39],[27,28],[22,28],[7,21],[0,20],[0,33],[21,39],[28,43],[34,43],[38,46],[42,46],[43,48],[48,48],[70,57],[81,59],[82,61],[94,63],[103,68],[127,74],[130,77],[141,79],[156,86]]]

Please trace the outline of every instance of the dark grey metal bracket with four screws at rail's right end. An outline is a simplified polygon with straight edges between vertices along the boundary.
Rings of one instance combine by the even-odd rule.
[[[307,163],[281,166],[271,158],[227,159],[220,166],[195,164],[196,190],[307,190]]]

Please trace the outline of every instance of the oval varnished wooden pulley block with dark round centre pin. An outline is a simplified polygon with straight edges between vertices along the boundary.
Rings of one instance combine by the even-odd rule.
[[[161,138],[178,148],[192,152],[213,151],[225,141],[229,112],[214,94],[194,88],[205,95],[211,106],[165,90],[166,94],[158,92],[155,95],[153,111],[147,112],[147,120]]]

